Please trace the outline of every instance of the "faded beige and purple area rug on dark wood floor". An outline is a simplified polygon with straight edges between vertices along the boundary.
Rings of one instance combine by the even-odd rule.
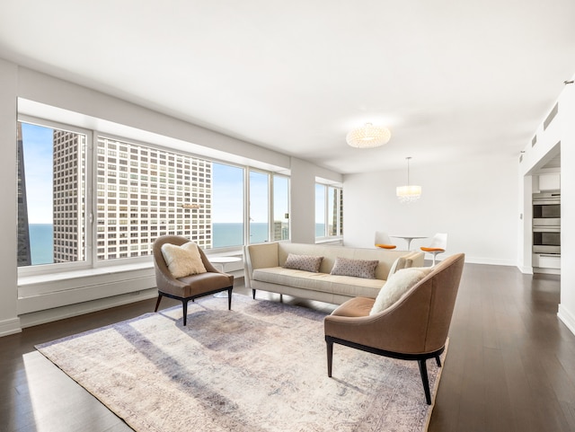
[[[246,295],[232,308],[204,297],[187,327],[178,306],[36,348],[137,432],[428,428],[417,362],[336,344],[328,378],[324,313]]]

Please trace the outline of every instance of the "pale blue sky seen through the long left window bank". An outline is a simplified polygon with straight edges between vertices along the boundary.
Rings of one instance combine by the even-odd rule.
[[[51,128],[22,123],[24,170],[30,224],[52,223],[52,135]],[[212,222],[242,222],[242,168],[223,163],[213,163],[212,179]],[[259,172],[252,172],[250,181],[252,222],[266,223],[268,222],[268,176]],[[274,209],[283,218],[284,213],[288,212],[288,182],[282,181],[281,186],[285,193],[276,193]]]

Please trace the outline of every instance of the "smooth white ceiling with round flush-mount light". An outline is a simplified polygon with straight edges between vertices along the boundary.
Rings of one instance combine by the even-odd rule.
[[[1,0],[0,57],[336,172],[517,157],[573,0]],[[350,128],[388,126],[376,149]]]

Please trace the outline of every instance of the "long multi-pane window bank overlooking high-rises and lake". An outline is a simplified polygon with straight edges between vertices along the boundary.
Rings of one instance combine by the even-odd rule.
[[[202,249],[289,237],[285,176],[60,126],[18,123],[19,267],[137,259],[164,234]]]

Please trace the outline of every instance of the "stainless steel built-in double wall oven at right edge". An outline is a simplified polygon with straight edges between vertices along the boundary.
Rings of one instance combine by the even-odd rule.
[[[534,267],[560,268],[560,192],[533,194],[533,253]]]

